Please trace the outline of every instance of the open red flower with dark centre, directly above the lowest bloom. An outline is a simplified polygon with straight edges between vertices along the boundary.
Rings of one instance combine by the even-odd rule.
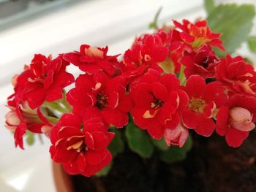
[[[67,101],[73,112],[81,117],[99,116],[106,123],[121,128],[127,125],[127,112],[132,107],[126,86],[127,82],[121,76],[110,79],[102,71],[92,76],[81,74],[75,88],[67,93]]]

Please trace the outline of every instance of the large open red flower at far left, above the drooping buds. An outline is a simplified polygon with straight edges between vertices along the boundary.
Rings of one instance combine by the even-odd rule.
[[[23,89],[21,100],[28,101],[35,109],[44,101],[61,99],[62,90],[74,81],[72,74],[65,71],[67,61],[61,56],[51,60],[44,55],[34,55],[30,66],[18,76],[17,85]]]

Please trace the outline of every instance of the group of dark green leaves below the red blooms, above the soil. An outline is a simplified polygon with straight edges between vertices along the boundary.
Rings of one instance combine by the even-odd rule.
[[[182,148],[178,146],[168,147],[164,139],[152,139],[146,131],[143,131],[141,128],[136,126],[132,120],[130,120],[129,125],[125,128],[125,130],[116,128],[111,128],[111,130],[116,134],[115,138],[108,146],[113,158],[115,158],[116,155],[124,152],[126,145],[124,142],[127,142],[129,150],[137,153],[141,158],[151,158],[154,153],[157,153],[160,160],[164,161],[165,163],[174,163],[176,161],[184,160],[187,152],[192,147],[192,138],[190,136]],[[113,163],[106,166],[96,175],[107,175],[112,166]]]

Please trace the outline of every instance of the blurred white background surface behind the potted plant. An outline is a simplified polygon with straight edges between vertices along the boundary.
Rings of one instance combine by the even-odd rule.
[[[256,5],[255,0],[220,2]],[[206,15],[203,0],[0,0],[0,191],[55,191],[48,139],[43,138],[43,144],[37,139],[23,151],[15,148],[12,134],[4,128],[12,76],[34,53],[56,56],[78,50],[81,44],[108,45],[110,54],[124,53],[136,35],[148,31],[159,7],[159,23]],[[238,53],[256,61],[246,45]]]

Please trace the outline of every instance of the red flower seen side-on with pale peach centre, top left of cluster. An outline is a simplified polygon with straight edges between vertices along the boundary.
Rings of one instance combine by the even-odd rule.
[[[107,53],[108,47],[81,45],[80,52],[65,53],[63,58],[88,74],[94,74],[102,69],[108,75],[116,76],[120,74],[124,66],[117,61],[118,55],[109,56]]]

